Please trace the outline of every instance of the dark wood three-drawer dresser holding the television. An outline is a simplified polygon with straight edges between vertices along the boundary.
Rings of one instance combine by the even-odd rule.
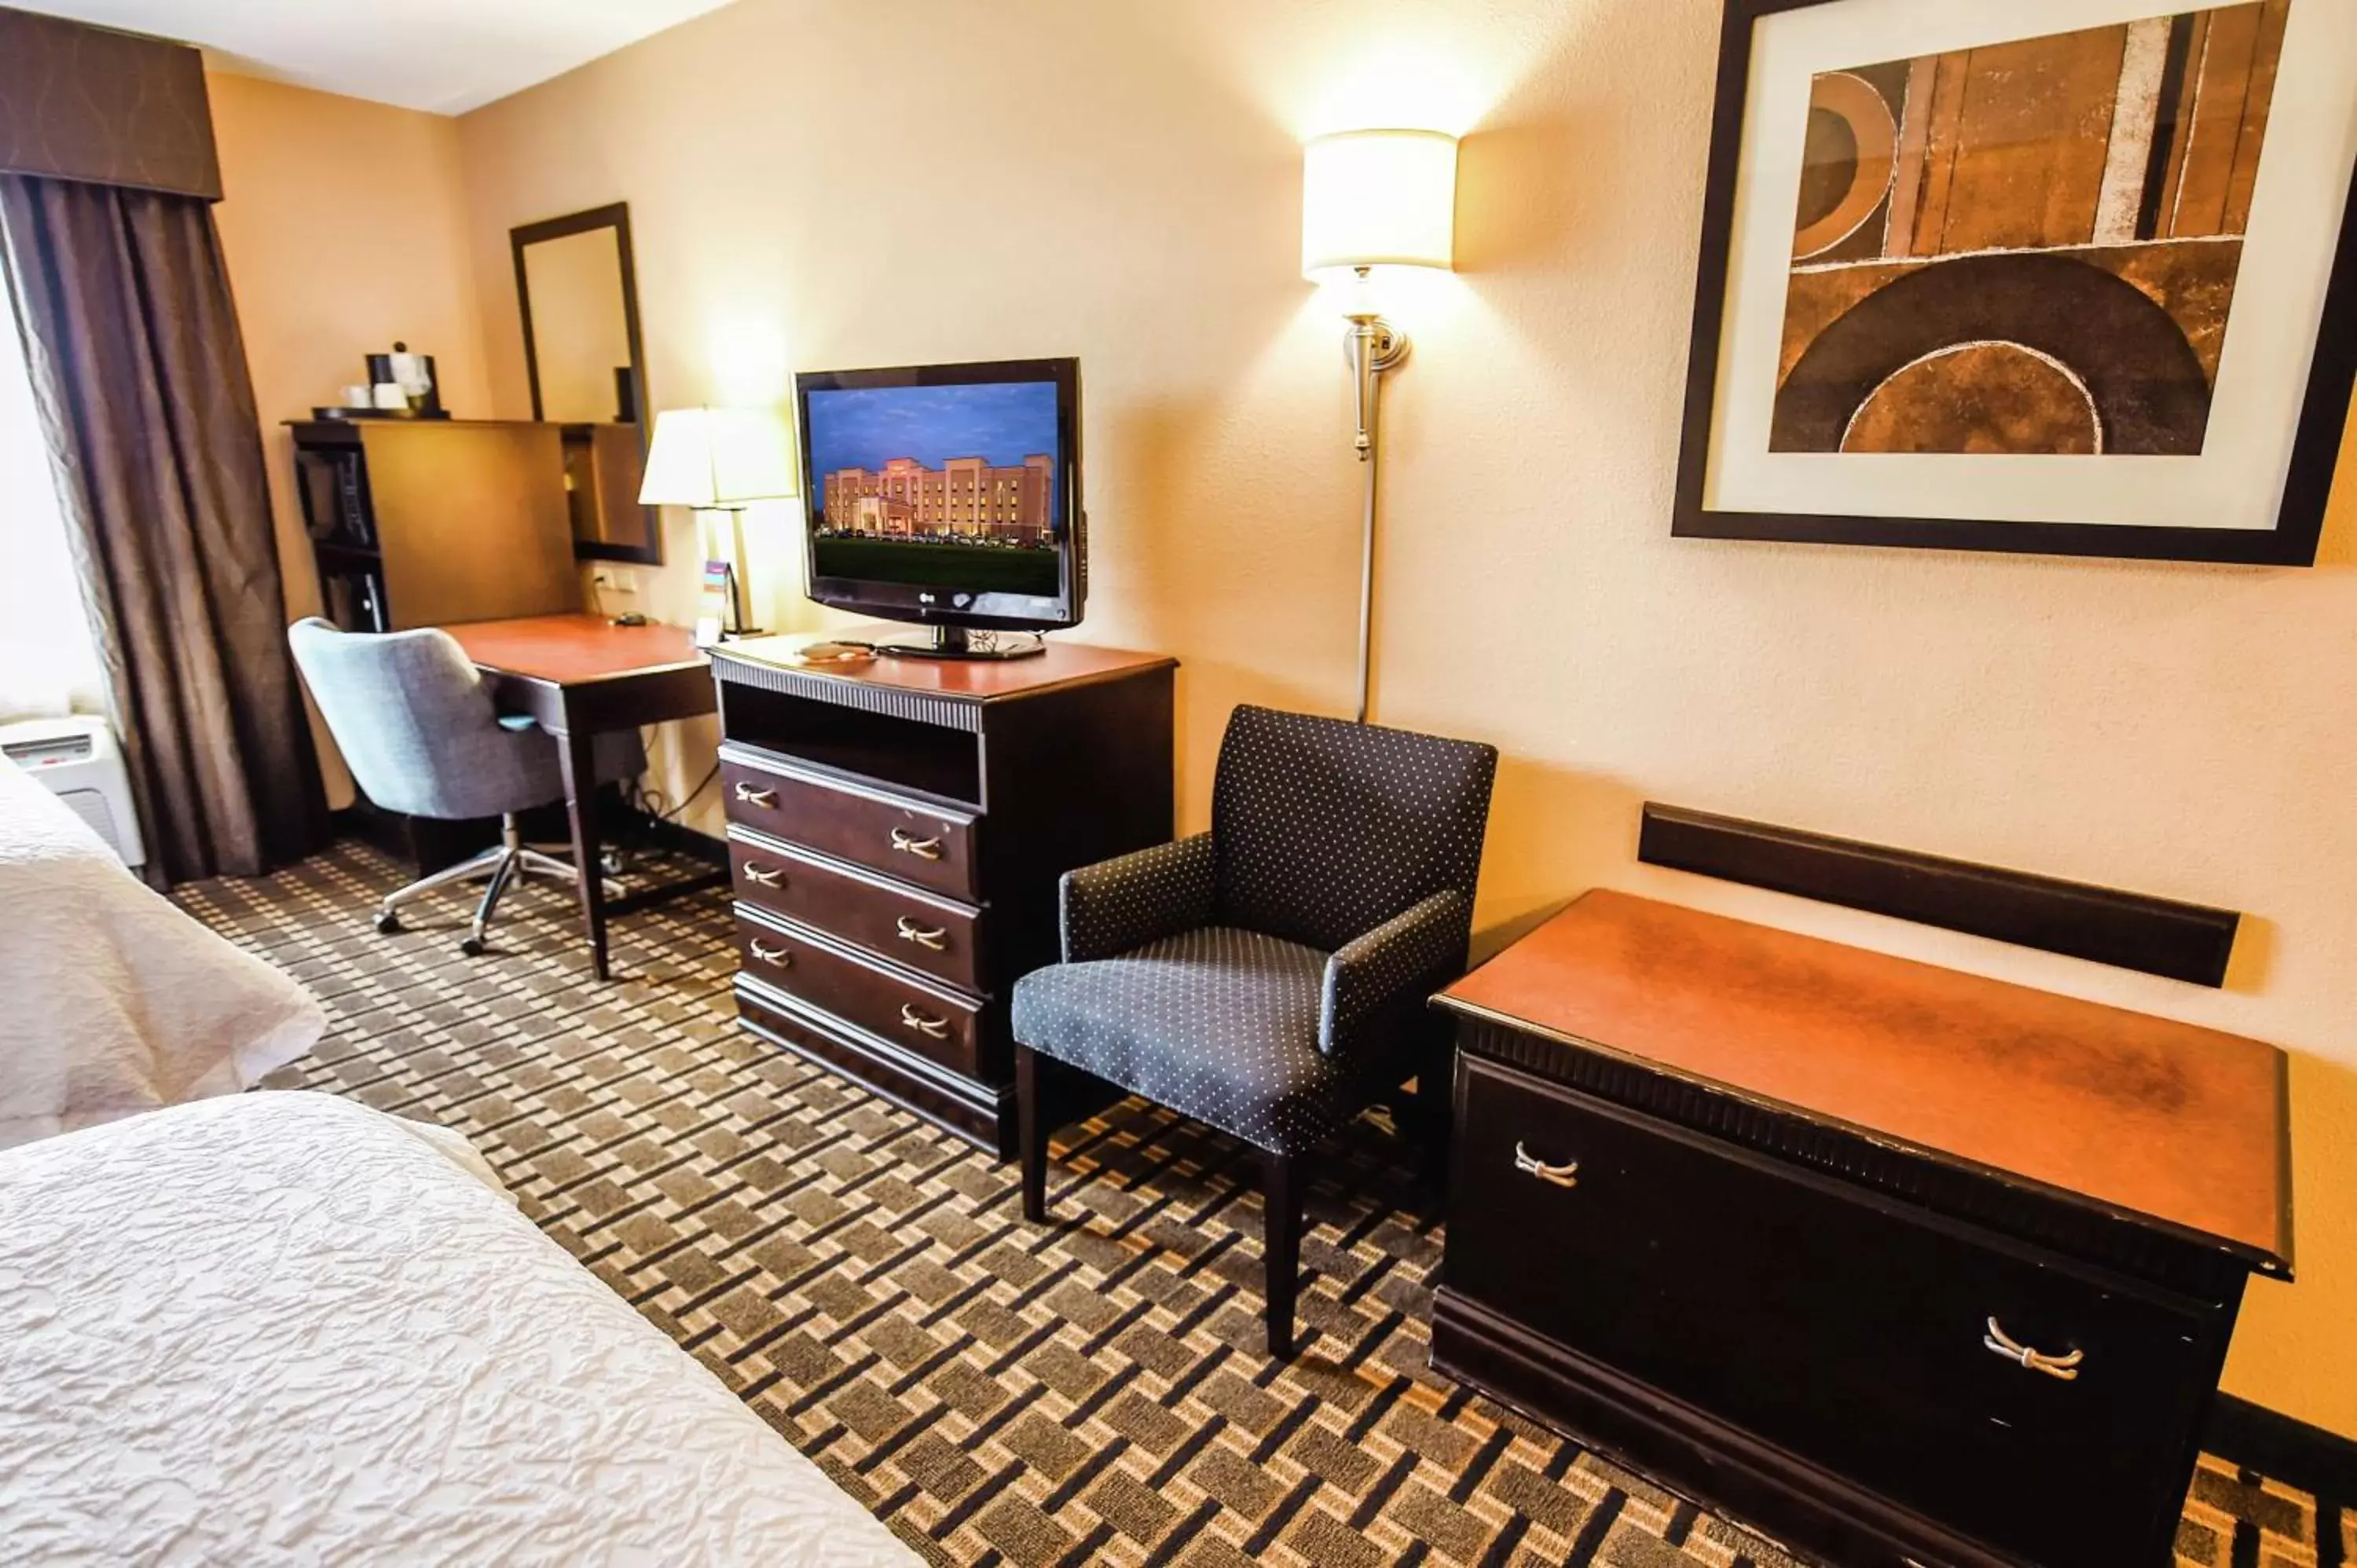
[[[1063,872],[1171,837],[1176,660],[792,663],[808,641],[712,651],[738,1014],[1006,1158],[1006,993],[1056,960]]]

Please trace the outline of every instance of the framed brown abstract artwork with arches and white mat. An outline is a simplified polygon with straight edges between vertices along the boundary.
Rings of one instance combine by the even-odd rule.
[[[1728,0],[1673,533],[2308,566],[2352,382],[2357,0]]]

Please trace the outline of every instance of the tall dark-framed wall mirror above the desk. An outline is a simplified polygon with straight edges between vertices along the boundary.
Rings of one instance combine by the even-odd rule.
[[[662,526],[639,505],[648,413],[629,207],[523,224],[509,241],[533,417],[563,431],[573,554],[655,566]]]

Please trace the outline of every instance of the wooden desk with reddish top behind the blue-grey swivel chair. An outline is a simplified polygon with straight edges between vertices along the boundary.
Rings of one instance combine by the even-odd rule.
[[[719,884],[691,877],[651,887],[606,903],[599,865],[596,738],[606,731],[693,719],[714,712],[712,665],[686,627],[618,627],[603,615],[526,615],[521,620],[474,620],[443,627],[483,672],[493,703],[523,712],[556,736],[566,773],[566,818],[573,828],[573,863],[582,870],[582,927],[589,964],[608,979],[606,917],[643,908],[658,898]]]

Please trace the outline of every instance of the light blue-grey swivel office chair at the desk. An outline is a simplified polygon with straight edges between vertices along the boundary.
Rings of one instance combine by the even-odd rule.
[[[344,766],[368,799],[387,811],[464,821],[500,818],[500,844],[410,882],[377,903],[377,929],[398,931],[398,908],[453,882],[490,879],[460,948],[483,953],[500,896],[516,877],[580,887],[570,861],[523,844],[516,813],[566,797],[556,740],[523,714],[497,714],[483,677],[457,639],[436,627],[415,632],[344,632],[318,615],[288,627],[295,667],[344,752]],[[636,731],[599,736],[601,783],[646,771]],[[608,894],[613,896],[613,894]]]

